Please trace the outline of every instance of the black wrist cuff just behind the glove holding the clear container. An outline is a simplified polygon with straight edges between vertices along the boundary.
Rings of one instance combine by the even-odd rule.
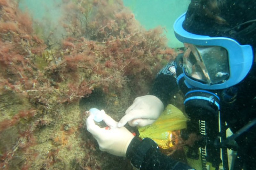
[[[127,148],[126,157],[131,160],[134,167],[140,169],[145,155],[153,148],[158,149],[158,145],[152,139],[144,138],[140,141],[134,137]]]

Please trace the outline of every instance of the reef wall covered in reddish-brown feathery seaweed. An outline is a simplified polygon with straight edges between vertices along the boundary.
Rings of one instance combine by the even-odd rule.
[[[176,52],[162,28],[145,30],[120,0],[56,8],[51,24],[0,0],[0,169],[132,169],[99,151],[85,111],[118,121]]]

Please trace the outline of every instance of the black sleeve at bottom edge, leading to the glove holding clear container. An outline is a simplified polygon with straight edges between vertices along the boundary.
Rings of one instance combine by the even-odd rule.
[[[128,146],[126,157],[140,170],[195,170],[161,153],[157,144],[150,138],[140,141],[139,138],[134,137]]]

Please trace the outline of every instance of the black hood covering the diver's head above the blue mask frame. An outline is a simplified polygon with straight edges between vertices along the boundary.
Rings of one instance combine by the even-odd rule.
[[[256,49],[256,1],[216,0],[217,10],[209,7],[210,2],[191,0],[183,28],[194,34],[232,38]]]

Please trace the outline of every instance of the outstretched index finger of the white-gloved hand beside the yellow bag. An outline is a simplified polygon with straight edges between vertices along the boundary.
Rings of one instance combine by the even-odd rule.
[[[120,128],[133,119],[149,118],[149,116],[150,115],[148,115],[148,113],[143,112],[142,109],[131,110],[129,114],[124,115],[124,117],[121,118],[121,120],[117,124],[117,127]]]

